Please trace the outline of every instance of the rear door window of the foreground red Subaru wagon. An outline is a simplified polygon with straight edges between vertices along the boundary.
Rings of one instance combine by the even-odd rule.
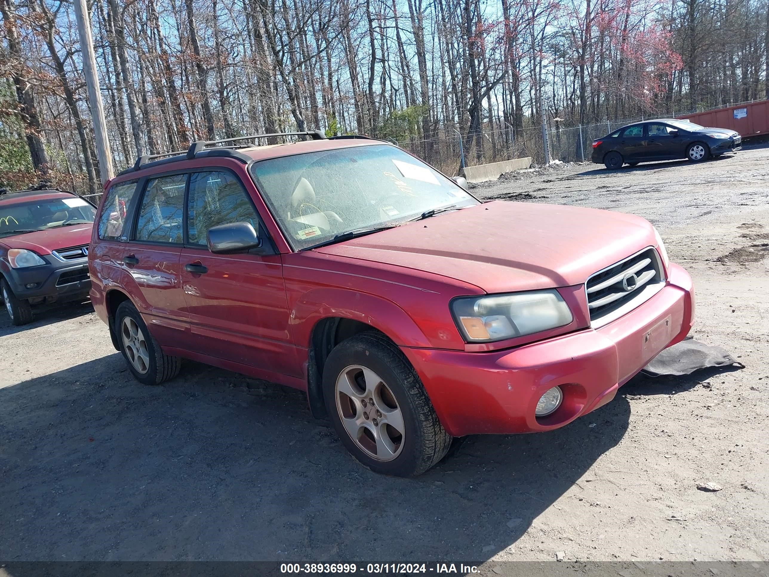
[[[147,182],[136,220],[135,240],[181,244],[188,175],[152,178]]]

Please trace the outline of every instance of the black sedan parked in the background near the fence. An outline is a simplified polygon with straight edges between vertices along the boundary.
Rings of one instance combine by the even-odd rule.
[[[660,118],[623,126],[593,141],[591,160],[606,168],[639,162],[688,158],[691,162],[741,148],[742,137],[727,128],[705,128],[694,122]]]

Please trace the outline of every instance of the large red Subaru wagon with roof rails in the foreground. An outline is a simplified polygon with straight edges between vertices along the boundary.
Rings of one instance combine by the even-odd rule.
[[[597,409],[691,329],[643,218],[481,203],[397,146],[301,134],[108,183],[91,297],[140,382],[185,358],[301,389],[360,462],[418,475],[454,437]]]

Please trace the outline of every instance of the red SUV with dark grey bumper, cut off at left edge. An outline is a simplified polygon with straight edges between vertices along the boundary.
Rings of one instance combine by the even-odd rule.
[[[0,190],[0,299],[14,325],[32,305],[85,299],[96,207],[72,192]]]

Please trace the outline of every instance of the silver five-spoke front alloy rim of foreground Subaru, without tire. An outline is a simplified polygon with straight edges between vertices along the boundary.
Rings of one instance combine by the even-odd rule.
[[[403,413],[379,375],[361,365],[345,367],[336,380],[335,399],[341,423],[359,449],[378,461],[401,454]]]

